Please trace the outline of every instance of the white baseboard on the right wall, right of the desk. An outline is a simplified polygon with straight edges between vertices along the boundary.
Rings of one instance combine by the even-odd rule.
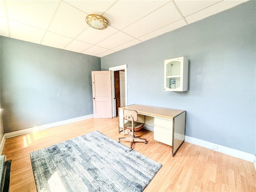
[[[246,161],[254,162],[254,166],[255,166],[256,156],[254,154],[246,153],[243,151],[239,151],[236,149],[232,149],[229,147],[225,147],[222,145],[218,145],[215,143],[211,143],[208,141],[204,141],[204,140],[193,138],[193,137],[186,136],[186,135],[185,135],[185,141],[188,143],[192,143],[192,144],[199,145],[199,146],[202,146],[202,147],[205,147],[208,149],[212,149],[214,151],[218,151],[218,152],[230,155],[230,156],[234,156],[234,157],[246,160]]]

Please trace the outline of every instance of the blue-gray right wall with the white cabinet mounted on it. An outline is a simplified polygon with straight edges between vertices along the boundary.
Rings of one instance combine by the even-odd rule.
[[[164,60],[189,59],[188,91],[164,92]],[[101,58],[127,64],[128,104],[186,110],[186,135],[256,154],[256,1]]]

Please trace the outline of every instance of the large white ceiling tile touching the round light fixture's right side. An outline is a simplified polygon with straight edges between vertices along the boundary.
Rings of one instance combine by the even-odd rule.
[[[146,2],[144,0],[119,0],[103,16],[107,18],[111,26],[123,29],[167,2],[167,0]]]

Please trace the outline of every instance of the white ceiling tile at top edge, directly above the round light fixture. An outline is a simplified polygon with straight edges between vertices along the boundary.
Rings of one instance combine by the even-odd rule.
[[[87,14],[104,13],[116,0],[64,0]]]

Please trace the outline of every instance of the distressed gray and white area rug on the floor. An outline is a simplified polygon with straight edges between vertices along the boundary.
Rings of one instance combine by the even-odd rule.
[[[141,192],[162,164],[101,132],[30,153],[38,192]]]

